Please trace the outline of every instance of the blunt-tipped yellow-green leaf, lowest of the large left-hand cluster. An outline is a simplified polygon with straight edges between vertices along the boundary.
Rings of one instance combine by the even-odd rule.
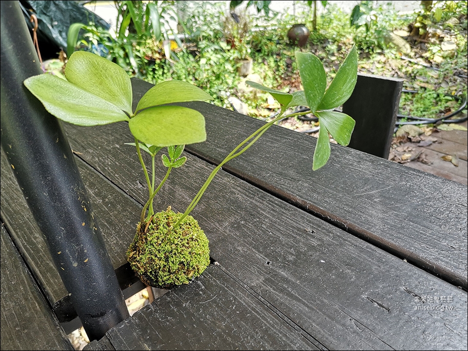
[[[128,125],[138,140],[158,147],[206,140],[205,118],[200,112],[186,107],[152,107],[139,112]]]

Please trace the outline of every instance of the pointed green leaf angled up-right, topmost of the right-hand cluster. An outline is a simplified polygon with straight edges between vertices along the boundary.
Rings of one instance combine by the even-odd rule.
[[[340,69],[331,81],[317,110],[332,110],[343,104],[351,96],[357,80],[357,51],[353,46]]]

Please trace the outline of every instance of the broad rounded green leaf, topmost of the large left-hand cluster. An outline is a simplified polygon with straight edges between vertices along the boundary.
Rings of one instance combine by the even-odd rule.
[[[65,77],[79,88],[132,114],[132,84],[128,74],[115,63],[95,54],[77,51],[65,66]]]

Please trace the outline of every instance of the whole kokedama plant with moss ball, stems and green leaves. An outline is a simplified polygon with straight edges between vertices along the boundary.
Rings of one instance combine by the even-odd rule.
[[[149,197],[141,212],[135,238],[127,250],[127,259],[144,283],[171,288],[190,282],[205,270],[210,263],[208,239],[189,214],[218,170],[250,148],[275,122],[311,112],[319,118],[320,132],[313,154],[313,170],[324,166],[330,157],[329,133],[339,144],[349,144],[354,120],[333,110],[343,104],[354,89],[357,78],[355,47],[328,89],[320,60],[308,53],[296,53],[295,56],[304,91],[290,94],[249,82],[252,87],[269,92],[279,102],[281,110],[272,121],[247,137],[215,167],[183,214],[173,212],[170,207],[155,213],[153,200],[172,168],[185,163],[186,157],[182,157],[184,145],[205,141],[205,121],[198,111],[167,104],[206,101],[211,99],[208,94],[190,83],[166,81],[146,92],[134,112],[132,87],[125,71],[98,55],[86,52],[76,52],[70,56],[65,68],[67,81],[50,74],[33,76],[24,81],[46,110],[65,122],[81,126],[128,122],[135,140],[128,144],[137,149]],[[295,106],[307,106],[310,111],[285,114]],[[162,163],[167,167],[167,172],[156,186],[156,154],[164,147],[167,147],[168,156],[162,155]],[[141,150],[151,156],[151,173],[148,173]]]

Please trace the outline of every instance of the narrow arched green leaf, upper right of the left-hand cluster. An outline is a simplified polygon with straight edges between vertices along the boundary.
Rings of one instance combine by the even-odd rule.
[[[206,100],[213,98],[195,85],[180,80],[168,80],[148,90],[138,102],[137,111],[174,102]]]

